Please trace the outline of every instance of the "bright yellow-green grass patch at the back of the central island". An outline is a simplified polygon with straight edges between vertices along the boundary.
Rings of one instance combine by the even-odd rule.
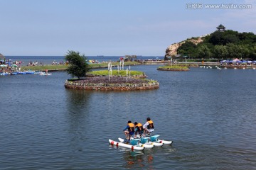
[[[93,71],[93,72],[88,72],[87,74],[91,74],[94,76],[108,76],[109,72],[108,70],[99,70],[99,71]],[[131,74],[131,77],[139,77],[139,76],[144,76],[144,72],[139,72],[139,71],[128,71],[128,76]],[[121,76],[121,77],[126,77],[127,76],[127,70],[112,70],[112,76]]]

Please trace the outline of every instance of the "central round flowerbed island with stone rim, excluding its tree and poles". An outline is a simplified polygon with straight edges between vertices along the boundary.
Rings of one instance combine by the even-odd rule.
[[[65,88],[97,91],[132,91],[158,89],[159,82],[145,79],[144,72],[100,70],[88,72],[85,79],[68,79]],[[110,75],[111,74],[111,75]]]

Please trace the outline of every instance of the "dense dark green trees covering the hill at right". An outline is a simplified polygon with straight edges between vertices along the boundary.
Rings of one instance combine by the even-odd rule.
[[[196,39],[196,38],[193,38]],[[256,60],[256,35],[254,33],[238,33],[225,30],[211,33],[198,45],[186,40],[177,50],[179,55],[191,59],[246,59]]]

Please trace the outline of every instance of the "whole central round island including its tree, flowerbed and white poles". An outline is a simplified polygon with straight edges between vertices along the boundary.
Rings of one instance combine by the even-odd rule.
[[[86,62],[86,57],[79,52],[69,51],[66,60],[70,63],[67,72],[78,79],[68,79],[65,81],[65,88],[79,90],[97,91],[134,91],[158,89],[159,82],[145,79],[144,72],[123,70],[121,67],[112,70],[109,62],[107,70],[90,72],[90,67]],[[82,77],[82,79],[80,79]]]

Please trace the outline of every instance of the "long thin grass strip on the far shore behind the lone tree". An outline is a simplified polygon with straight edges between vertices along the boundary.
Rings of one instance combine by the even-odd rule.
[[[138,65],[139,62],[124,62],[124,65]],[[102,62],[98,64],[89,64],[92,69],[94,68],[105,68],[108,66],[107,62]],[[117,65],[120,65],[120,62],[112,62],[112,67],[116,67]],[[44,70],[65,70],[68,69],[68,65],[43,65],[43,66],[23,66],[21,67],[21,70],[39,70],[39,71],[44,71]]]

